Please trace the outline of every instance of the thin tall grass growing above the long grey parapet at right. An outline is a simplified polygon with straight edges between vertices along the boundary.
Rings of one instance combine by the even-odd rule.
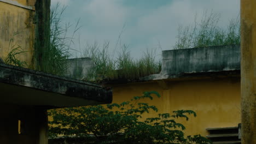
[[[240,21],[231,19],[226,29],[218,26],[220,14],[203,12],[200,22],[195,16],[194,25],[179,26],[174,49],[240,44]]]

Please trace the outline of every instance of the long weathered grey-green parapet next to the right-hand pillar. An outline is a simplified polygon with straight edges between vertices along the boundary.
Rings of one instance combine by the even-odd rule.
[[[212,46],[162,51],[161,75],[240,70],[240,46]]]

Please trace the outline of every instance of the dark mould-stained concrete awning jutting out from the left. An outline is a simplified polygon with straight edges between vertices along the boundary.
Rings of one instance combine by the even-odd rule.
[[[112,103],[112,91],[94,83],[1,62],[0,87],[0,104],[52,109]]]

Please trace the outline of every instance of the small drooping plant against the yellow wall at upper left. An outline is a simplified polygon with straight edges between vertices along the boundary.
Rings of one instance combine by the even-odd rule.
[[[22,50],[20,45],[14,44],[14,37],[17,34],[18,33],[14,33],[13,37],[9,41],[9,53],[7,57],[5,57],[4,63],[16,65],[19,67],[25,67],[27,63],[25,61],[21,61],[19,55],[27,51]]]

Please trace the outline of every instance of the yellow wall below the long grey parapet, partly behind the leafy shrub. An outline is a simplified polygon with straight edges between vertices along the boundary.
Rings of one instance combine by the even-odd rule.
[[[146,91],[157,91],[161,98],[147,100],[158,107],[159,113],[173,110],[193,110],[197,117],[189,121],[181,120],[187,130],[186,135],[206,136],[206,128],[236,127],[240,120],[240,77],[237,79],[204,79],[165,81],[162,87],[158,82],[129,83],[112,85],[113,103],[130,100]],[[145,117],[154,117],[149,113]]]

